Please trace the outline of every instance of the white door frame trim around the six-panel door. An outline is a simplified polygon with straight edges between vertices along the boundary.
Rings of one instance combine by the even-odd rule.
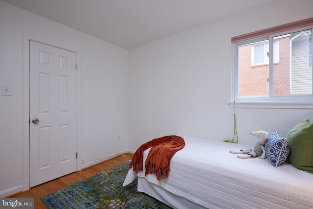
[[[76,171],[82,170],[81,160],[81,70],[80,52],[78,49],[64,43],[46,40],[31,34],[22,33],[22,191],[30,188],[30,118],[29,118],[29,41],[66,49],[76,53],[77,73],[76,73]]]

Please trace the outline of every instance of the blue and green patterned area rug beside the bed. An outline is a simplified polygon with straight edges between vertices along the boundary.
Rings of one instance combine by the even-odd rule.
[[[137,191],[137,179],[123,186],[129,162],[104,170],[88,179],[45,195],[48,209],[171,209]]]

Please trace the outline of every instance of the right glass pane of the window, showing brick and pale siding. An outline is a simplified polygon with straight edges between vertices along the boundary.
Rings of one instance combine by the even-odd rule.
[[[274,37],[279,41],[279,63],[273,66],[274,95],[312,94],[312,69],[308,69],[311,38],[312,30]]]

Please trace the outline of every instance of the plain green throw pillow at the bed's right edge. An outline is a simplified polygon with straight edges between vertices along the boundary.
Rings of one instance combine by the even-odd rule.
[[[290,146],[288,160],[293,166],[313,173],[313,123],[302,120],[287,135]]]

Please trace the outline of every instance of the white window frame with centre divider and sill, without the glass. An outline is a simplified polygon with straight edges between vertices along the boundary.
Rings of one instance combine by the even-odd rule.
[[[238,96],[239,90],[239,72],[238,72],[238,46],[247,45],[250,43],[262,42],[268,40],[269,43],[269,54],[273,54],[273,38],[277,36],[282,36],[284,34],[289,34],[301,30],[312,29],[313,25],[306,27],[299,27],[291,30],[285,30],[279,33],[269,34],[264,37],[249,39],[241,42],[235,42],[232,44],[233,47],[233,60],[232,60],[232,98],[231,102],[228,104],[233,106],[233,103],[236,102],[236,107],[240,107],[239,103],[243,104],[243,107],[248,108],[313,108],[313,94],[306,95],[274,95],[273,93],[273,57],[269,56],[269,95],[268,96],[251,96],[251,97],[240,97]],[[312,45],[311,45],[312,47]]]

